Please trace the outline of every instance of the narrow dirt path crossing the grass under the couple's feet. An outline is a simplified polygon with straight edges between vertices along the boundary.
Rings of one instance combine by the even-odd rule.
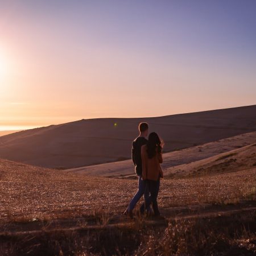
[[[131,220],[123,214],[108,213],[101,216],[88,216],[84,218],[56,219],[49,221],[34,220],[31,222],[2,223],[0,224],[0,236],[36,236],[40,233],[73,232],[76,230],[100,230],[102,228],[127,228],[138,225],[167,226],[169,221],[183,219],[216,218],[233,216],[251,212],[256,214],[256,201],[243,201],[236,205],[188,205],[184,207],[172,207],[160,209],[162,217],[146,218],[134,214]]]

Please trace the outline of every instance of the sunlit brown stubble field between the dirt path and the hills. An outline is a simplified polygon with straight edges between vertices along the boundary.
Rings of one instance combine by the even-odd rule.
[[[66,174],[1,160],[1,222],[121,214],[137,181]],[[250,199],[256,167],[228,174],[162,180],[159,207],[229,204]]]

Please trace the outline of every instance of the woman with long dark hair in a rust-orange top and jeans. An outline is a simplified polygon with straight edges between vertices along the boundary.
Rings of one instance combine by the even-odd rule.
[[[145,207],[148,209],[152,203],[155,216],[159,216],[158,192],[160,186],[160,177],[163,178],[163,171],[160,163],[162,158],[163,142],[160,141],[158,134],[151,133],[148,136],[148,142],[141,147],[142,158],[142,179],[146,180],[146,189],[150,192],[150,197],[145,201]]]

